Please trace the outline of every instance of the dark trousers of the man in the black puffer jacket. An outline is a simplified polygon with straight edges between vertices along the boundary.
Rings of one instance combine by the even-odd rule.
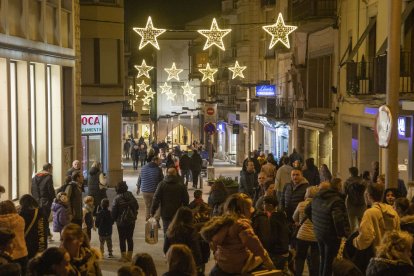
[[[337,238],[318,239],[319,252],[321,254],[319,276],[332,276],[332,262],[338,254],[340,244],[341,240]]]

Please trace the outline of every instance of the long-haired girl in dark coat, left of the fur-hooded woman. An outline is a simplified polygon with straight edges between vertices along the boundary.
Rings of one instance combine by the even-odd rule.
[[[188,207],[180,207],[168,227],[164,240],[164,254],[173,244],[185,244],[193,254],[196,266],[203,270],[202,253],[200,247],[200,234],[193,224],[193,213]]]

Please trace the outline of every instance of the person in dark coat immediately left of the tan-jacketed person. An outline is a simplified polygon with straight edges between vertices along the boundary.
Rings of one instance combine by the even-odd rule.
[[[264,211],[257,212],[252,218],[252,227],[267,250],[276,269],[288,270],[289,225],[285,212],[277,210],[275,196],[265,196]]]

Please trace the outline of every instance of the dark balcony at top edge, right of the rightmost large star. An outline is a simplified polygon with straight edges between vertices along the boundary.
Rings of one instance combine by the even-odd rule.
[[[292,0],[292,21],[336,16],[337,0]]]

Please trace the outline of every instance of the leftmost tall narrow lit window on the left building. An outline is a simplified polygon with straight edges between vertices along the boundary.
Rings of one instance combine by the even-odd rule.
[[[11,119],[11,170],[12,199],[19,197],[18,191],[18,121],[17,121],[17,64],[10,62],[10,119]]]

